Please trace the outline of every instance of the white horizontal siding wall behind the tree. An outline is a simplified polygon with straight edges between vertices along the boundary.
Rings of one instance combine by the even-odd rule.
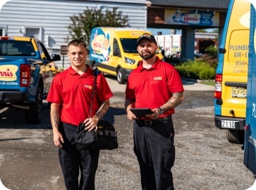
[[[8,36],[25,36],[25,28],[39,28],[39,39],[50,53],[59,53],[61,45],[67,44],[70,16],[83,13],[88,8],[117,7],[128,15],[130,27],[146,29],[147,1],[8,1],[0,11],[0,28]],[[70,36],[69,36],[70,37]],[[65,58],[67,60],[67,58]],[[62,65],[62,61],[61,61]]]

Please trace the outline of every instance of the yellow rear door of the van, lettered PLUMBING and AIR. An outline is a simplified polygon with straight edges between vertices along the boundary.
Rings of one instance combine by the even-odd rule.
[[[250,4],[245,6],[244,3],[239,1],[233,4],[226,35],[221,85],[221,115],[236,118],[245,118],[247,94]],[[244,11],[235,11],[241,7]]]

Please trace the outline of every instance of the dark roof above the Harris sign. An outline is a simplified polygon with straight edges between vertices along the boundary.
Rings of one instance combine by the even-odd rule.
[[[151,6],[176,8],[228,9],[229,0],[150,0]]]

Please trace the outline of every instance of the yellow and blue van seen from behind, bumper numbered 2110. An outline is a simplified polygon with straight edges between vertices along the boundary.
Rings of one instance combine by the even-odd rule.
[[[229,1],[214,91],[214,122],[231,143],[243,144],[247,96],[250,3]]]

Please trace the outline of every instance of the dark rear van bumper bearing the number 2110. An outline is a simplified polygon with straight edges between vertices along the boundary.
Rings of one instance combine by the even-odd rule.
[[[244,130],[245,129],[245,118],[230,118],[223,116],[214,117],[215,126],[219,129],[234,129]]]

